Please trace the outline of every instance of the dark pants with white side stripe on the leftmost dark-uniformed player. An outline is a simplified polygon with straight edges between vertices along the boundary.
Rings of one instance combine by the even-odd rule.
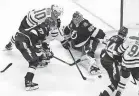
[[[15,38],[15,46],[21,52],[23,57],[29,62],[29,67],[36,68],[39,62],[34,47],[29,45],[28,39],[20,34]]]

